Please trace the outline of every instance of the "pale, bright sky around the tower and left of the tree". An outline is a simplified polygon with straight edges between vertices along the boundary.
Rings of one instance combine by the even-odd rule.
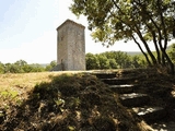
[[[0,0],[0,61],[25,60],[49,63],[57,59],[56,28],[67,19],[86,26],[85,50],[98,53],[108,50],[137,51],[133,44],[117,43],[110,48],[94,43],[84,16],[77,19],[69,11],[71,0]]]

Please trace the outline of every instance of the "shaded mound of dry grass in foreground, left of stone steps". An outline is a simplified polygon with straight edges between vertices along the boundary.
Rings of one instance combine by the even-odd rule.
[[[13,108],[1,130],[137,131],[139,120],[120,106],[117,94],[89,74],[62,74],[37,84]]]

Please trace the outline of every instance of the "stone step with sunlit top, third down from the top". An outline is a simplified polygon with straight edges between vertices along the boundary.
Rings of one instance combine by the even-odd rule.
[[[124,85],[109,85],[109,88],[113,92],[116,92],[118,94],[128,94],[133,92],[135,85],[132,84],[124,84]]]

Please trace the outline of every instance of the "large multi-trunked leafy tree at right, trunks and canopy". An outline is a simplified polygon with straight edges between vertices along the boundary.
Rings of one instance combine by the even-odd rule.
[[[88,17],[95,41],[110,46],[120,39],[132,39],[149,66],[167,66],[174,73],[174,64],[166,53],[174,28],[171,0],[73,0],[70,10]],[[150,50],[151,41],[156,56]]]

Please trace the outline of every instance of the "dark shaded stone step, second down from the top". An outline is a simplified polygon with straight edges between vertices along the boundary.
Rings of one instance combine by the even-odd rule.
[[[109,85],[120,85],[135,83],[133,78],[114,78],[114,79],[102,79],[102,81]]]

